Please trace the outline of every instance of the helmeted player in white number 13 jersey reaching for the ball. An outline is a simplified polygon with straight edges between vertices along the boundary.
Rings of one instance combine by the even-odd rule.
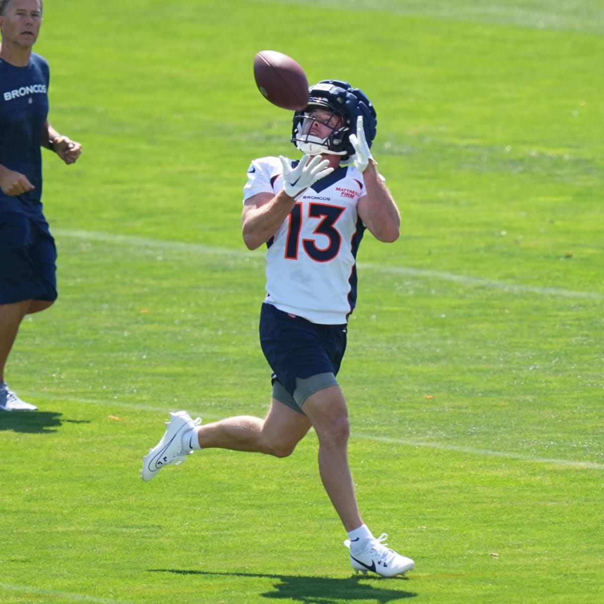
[[[400,214],[370,147],[373,105],[347,82],[324,80],[294,114],[301,159],[251,162],[243,188],[243,240],[266,245],[266,297],[260,344],[272,369],[272,402],[264,419],[230,417],[199,425],[185,411],[144,457],[151,480],[196,449],[223,448],[286,457],[312,427],[324,488],[344,525],[356,571],[404,574],[414,562],[386,547],[364,524],[347,460],[348,409],[338,383],[347,324],[356,304],[356,255],[366,231],[382,242],[399,237]]]

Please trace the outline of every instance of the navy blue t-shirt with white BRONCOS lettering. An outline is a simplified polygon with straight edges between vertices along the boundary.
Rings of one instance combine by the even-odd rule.
[[[42,127],[48,117],[48,63],[31,53],[27,67],[0,59],[0,165],[21,172],[34,190],[8,197],[0,190],[0,211],[21,202],[27,211],[42,211]]]

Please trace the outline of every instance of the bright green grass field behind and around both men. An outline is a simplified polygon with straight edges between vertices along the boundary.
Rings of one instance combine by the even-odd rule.
[[[604,2],[45,2],[56,305],[22,325],[0,416],[0,602],[604,601]],[[249,161],[291,114],[254,54],[376,106],[400,207],[367,238],[340,382],[364,519],[413,557],[353,576],[316,437],[199,452],[152,483],[169,411],[262,416]]]

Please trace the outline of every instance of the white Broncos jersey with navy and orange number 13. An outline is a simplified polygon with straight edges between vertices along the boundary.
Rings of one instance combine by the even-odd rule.
[[[279,158],[255,159],[243,199],[282,188]],[[304,191],[266,243],[266,303],[312,323],[347,322],[356,304],[356,252],[365,231],[356,204],[364,194],[363,177],[352,166]]]

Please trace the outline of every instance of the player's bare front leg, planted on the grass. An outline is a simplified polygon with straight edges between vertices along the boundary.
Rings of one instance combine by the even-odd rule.
[[[323,486],[347,532],[363,521],[356,503],[355,485],[348,464],[350,427],[344,394],[339,386],[324,388],[303,405],[319,439],[319,471]]]

